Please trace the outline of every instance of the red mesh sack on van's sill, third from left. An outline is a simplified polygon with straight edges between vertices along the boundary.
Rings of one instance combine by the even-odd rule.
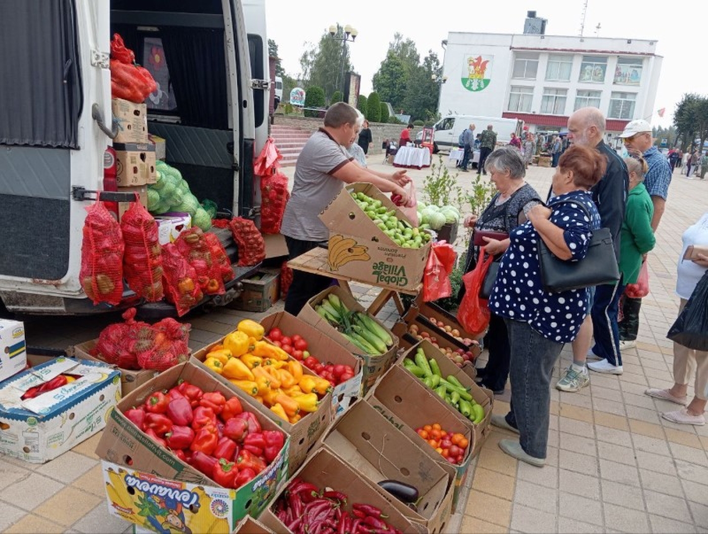
[[[173,243],[162,247],[162,267],[165,297],[175,305],[178,316],[182,317],[204,297],[197,280],[197,272]]]

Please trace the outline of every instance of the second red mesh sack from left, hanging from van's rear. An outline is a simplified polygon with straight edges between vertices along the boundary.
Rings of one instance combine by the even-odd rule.
[[[125,240],[123,273],[128,287],[147,302],[162,300],[164,271],[157,223],[141,203],[134,202],[120,217],[120,230]]]

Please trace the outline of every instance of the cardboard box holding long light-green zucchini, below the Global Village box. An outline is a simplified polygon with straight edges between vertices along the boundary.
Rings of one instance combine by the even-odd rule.
[[[382,354],[381,356],[370,356],[369,354],[362,354],[363,351],[358,348],[358,346],[343,337],[339,333],[339,331],[334,328],[334,326],[329,324],[326,319],[321,317],[314,310],[314,307],[318,305],[319,302],[321,302],[324,297],[326,297],[330,293],[337,295],[348,309],[357,312],[366,312],[364,307],[360,305],[359,302],[357,302],[349,292],[346,292],[338,285],[333,285],[324,290],[323,292],[319,293],[319,295],[316,295],[312,297],[309,301],[307,301],[307,304],[304,305],[299,314],[297,314],[297,318],[301,319],[307,324],[314,326],[317,330],[323,332],[326,336],[330,337],[331,339],[339,343],[341,346],[346,348],[350,353],[356,354],[357,356],[362,358],[362,360],[364,360],[365,366],[362,385],[363,392],[367,392],[369,387],[374,385],[376,379],[379,376],[383,375],[386,370],[389,369],[396,361],[396,349],[398,348],[399,340],[395,336],[395,334],[392,334],[389,329],[384,326],[382,322],[380,322],[376,317],[372,316],[371,314],[368,314],[369,317],[374,319],[379,325],[382,326],[382,328],[384,328],[386,331],[389,332],[389,334],[391,334],[391,337],[394,340],[394,344],[391,348],[389,348],[389,351],[387,353]]]

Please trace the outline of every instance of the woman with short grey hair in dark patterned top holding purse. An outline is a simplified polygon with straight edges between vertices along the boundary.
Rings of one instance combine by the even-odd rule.
[[[512,147],[501,147],[489,154],[486,168],[491,173],[491,182],[498,193],[493,196],[489,205],[479,217],[469,215],[464,220],[464,226],[474,228],[475,232],[510,232],[526,222],[531,208],[541,203],[541,198],[532,186],[524,181],[526,175],[524,162],[518,151]],[[467,247],[467,264],[464,272],[469,273],[480,260],[481,254],[491,254],[500,257],[509,246],[509,239],[498,241],[484,238],[484,247],[474,246],[471,239]],[[482,250],[484,249],[484,250]],[[459,293],[459,299],[464,296],[464,286]],[[477,370],[484,387],[495,394],[502,394],[509,376],[509,340],[504,319],[492,313],[489,320],[489,331],[485,345],[489,348],[489,360],[486,368]]]

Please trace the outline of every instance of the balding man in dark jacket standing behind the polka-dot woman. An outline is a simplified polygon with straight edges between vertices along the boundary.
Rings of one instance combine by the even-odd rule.
[[[620,230],[624,221],[624,206],[627,203],[629,175],[627,165],[619,154],[603,142],[605,115],[598,108],[581,108],[568,120],[569,137],[580,147],[597,149],[607,159],[605,175],[593,187],[593,202],[600,212],[603,227],[610,229],[619,260]],[[619,326],[617,312],[622,287],[617,284],[598,285],[591,292],[590,316],[586,317],[581,330],[573,341],[573,363],[556,384],[566,392],[576,392],[590,384],[588,368],[599,373],[622,374],[622,355],[619,353]],[[590,349],[595,334],[595,346]],[[588,357],[601,358],[586,368]]]

